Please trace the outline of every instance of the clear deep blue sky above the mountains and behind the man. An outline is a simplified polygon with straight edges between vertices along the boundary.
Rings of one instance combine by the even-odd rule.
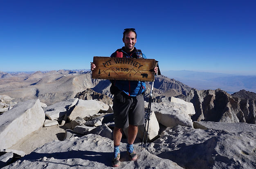
[[[89,69],[124,28],[162,71],[256,75],[255,0],[0,0],[0,71]]]

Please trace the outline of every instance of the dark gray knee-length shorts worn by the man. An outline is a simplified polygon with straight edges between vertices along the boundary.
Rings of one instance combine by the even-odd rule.
[[[126,128],[130,125],[144,124],[144,97],[140,94],[136,97],[126,97],[125,103],[113,99],[113,111],[115,127]]]

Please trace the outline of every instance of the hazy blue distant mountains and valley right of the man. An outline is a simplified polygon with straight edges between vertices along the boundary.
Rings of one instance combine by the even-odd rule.
[[[231,75],[189,70],[169,70],[162,72],[162,75],[176,79],[198,90],[215,90],[220,88],[229,94],[240,90],[256,92],[256,75]]]

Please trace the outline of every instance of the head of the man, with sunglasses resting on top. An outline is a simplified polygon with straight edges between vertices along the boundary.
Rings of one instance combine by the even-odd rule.
[[[134,49],[137,42],[137,33],[134,28],[124,29],[123,42],[127,52],[131,52]]]

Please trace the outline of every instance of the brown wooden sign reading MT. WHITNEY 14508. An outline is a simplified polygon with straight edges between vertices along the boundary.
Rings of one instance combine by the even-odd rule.
[[[93,79],[155,80],[155,59],[94,56],[93,63],[96,65],[92,70]]]

